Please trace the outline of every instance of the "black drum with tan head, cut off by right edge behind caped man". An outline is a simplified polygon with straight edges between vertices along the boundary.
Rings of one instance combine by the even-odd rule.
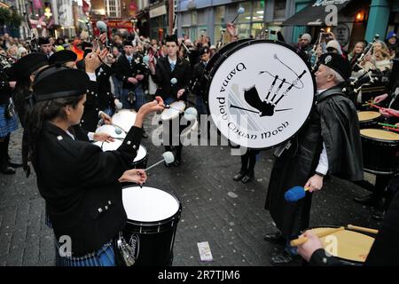
[[[390,175],[399,166],[399,134],[387,130],[360,130],[364,170]]]

